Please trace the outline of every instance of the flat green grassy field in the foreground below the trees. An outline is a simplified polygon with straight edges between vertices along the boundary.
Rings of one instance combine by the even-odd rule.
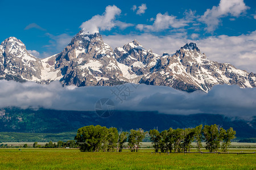
[[[256,154],[151,154],[78,149],[2,148],[0,169],[255,169]],[[229,150],[238,152],[241,150]],[[254,152],[256,150],[243,150]]]

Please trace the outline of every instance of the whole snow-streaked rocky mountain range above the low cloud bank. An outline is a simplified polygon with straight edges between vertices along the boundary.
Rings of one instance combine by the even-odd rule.
[[[210,61],[193,42],[160,56],[137,40],[113,50],[100,33],[83,30],[62,52],[44,59],[32,56],[22,41],[9,37],[0,45],[0,79],[42,84],[59,80],[64,86],[79,87],[143,83],[187,92],[208,92],[216,84],[256,86],[256,74]]]

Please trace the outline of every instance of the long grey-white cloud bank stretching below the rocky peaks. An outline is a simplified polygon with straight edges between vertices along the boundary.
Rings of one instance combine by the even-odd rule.
[[[211,113],[228,117],[256,116],[256,88],[214,86],[208,94],[191,94],[171,87],[125,84],[113,87],[62,87],[34,82],[0,80],[0,107],[46,108],[69,111],[94,111],[102,98],[113,100],[115,109],[158,111],[166,114]]]

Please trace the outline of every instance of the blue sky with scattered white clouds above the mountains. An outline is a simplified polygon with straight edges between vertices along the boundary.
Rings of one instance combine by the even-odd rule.
[[[96,26],[113,48],[137,39],[155,53],[174,53],[193,41],[209,59],[256,73],[255,0],[0,0],[0,6],[0,41],[15,36],[36,57],[61,52],[82,23],[103,18],[110,25],[99,19]]]

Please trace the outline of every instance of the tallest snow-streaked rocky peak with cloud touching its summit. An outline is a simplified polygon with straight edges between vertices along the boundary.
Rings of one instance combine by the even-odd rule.
[[[55,69],[61,70],[63,84],[76,86],[112,84],[122,75],[112,48],[103,41],[100,33],[84,30],[57,54]]]

